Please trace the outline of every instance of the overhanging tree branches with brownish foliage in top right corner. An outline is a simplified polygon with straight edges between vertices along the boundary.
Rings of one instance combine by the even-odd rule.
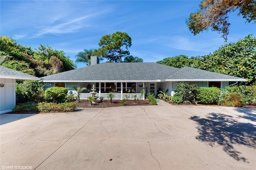
[[[228,13],[235,10],[239,10],[238,15],[242,15],[247,22],[256,22],[255,0],[202,0],[200,10],[191,13],[186,24],[194,35],[212,28],[221,33],[227,42],[230,26]]]

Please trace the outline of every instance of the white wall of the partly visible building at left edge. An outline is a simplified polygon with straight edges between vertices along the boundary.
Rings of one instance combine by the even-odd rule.
[[[0,114],[11,112],[16,105],[15,79],[0,79]]]

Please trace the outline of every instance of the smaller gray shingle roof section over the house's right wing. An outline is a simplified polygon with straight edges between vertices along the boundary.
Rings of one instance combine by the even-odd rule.
[[[242,81],[239,77],[234,77],[231,75],[225,75],[220,73],[214,73],[211,71],[205,71],[201,69],[196,69],[192,67],[183,67],[180,68],[176,73],[172,73],[165,77],[164,79],[168,80],[230,80],[230,81]],[[244,79],[245,80],[245,79]]]

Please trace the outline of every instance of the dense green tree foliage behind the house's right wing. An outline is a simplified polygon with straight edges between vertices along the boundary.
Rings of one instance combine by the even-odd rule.
[[[248,84],[256,83],[256,38],[252,34],[202,58],[200,69],[242,77],[248,79]]]

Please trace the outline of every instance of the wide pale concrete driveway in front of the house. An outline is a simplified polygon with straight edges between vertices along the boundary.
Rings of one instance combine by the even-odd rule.
[[[256,169],[256,109],[160,101],[0,118],[1,169]]]

